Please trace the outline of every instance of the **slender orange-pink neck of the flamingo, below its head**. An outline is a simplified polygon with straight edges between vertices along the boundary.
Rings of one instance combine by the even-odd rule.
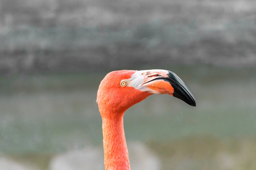
[[[102,117],[102,133],[105,169],[131,169],[123,129],[123,113],[114,118]]]

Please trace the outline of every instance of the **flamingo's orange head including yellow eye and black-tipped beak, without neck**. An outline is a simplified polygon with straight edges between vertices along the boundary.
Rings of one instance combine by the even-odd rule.
[[[112,71],[100,83],[97,103],[101,116],[119,114],[152,94],[168,94],[196,106],[185,83],[168,70]]]

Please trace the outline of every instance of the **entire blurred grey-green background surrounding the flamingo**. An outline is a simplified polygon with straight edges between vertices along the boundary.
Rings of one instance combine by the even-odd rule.
[[[0,169],[104,169],[98,85],[174,71],[193,108],[125,113],[132,169],[256,169],[253,0],[0,0]]]

